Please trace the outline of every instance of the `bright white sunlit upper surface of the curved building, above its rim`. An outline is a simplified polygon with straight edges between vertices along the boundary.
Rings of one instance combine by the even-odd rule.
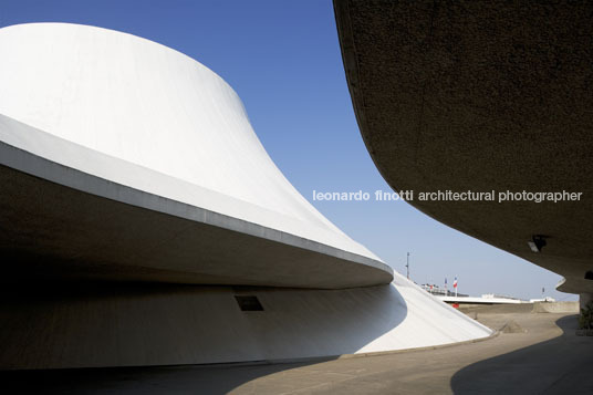
[[[294,189],[266,153],[237,94],[193,59],[131,34],[65,23],[0,29],[0,114],[202,193],[164,190],[152,179],[79,160],[38,141],[20,139],[18,148],[381,261]]]

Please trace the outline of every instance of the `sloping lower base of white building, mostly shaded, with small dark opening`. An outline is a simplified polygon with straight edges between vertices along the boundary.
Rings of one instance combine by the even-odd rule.
[[[257,295],[264,311],[240,311],[235,294]],[[398,274],[388,285],[348,290],[185,287],[37,302],[29,295],[25,304],[8,298],[0,319],[0,368],[306,358],[491,334]]]

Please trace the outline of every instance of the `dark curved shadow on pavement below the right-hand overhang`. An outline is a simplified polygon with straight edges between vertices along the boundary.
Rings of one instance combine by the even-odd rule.
[[[576,336],[576,315],[555,324],[563,334],[471,364],[450,381],[455,394],[592,394],[593,337]],[[513,334],[509,334],[513,335]]]

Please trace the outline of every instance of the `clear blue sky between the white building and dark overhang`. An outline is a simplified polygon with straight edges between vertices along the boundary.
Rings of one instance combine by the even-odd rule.
[[[330,0],[0,0],[0,27],[73,22],[174,48],[222,76],[242,98],[263,146],[312,201],[313,190],[389,190],[358,133]],[[336,226],[412,279],[459,292],[545,294],[560,277],[452,230],[412,206],[312,201]],[[527,246],[526,246],[527,247]]]

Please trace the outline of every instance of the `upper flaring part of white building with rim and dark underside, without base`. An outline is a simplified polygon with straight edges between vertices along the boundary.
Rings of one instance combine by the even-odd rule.
[[[275,253],[243,251],[240,266],[267,261],[251,270],[267,279],[238,272],[238,262],[226,266],[221,261],[228,260],[217,253],[209,262],[189,262],[195,256],[188,253],[185,260],[164,264],[144,259],[143,264],[214,276],[175,280],[201,283],[343,288],[392,280],[389,267],[325,219],[283,177],[237,94],[200,63],[131,34],[64,23],[1,29],[0,56],[2,165],[319,258],[293,257],[285,266]],[[35,160],[37,168],[31,165]],[[56,164],[75,171],[50,171]],[[113,183],[118,188],[107,190]],[[158,201],[147,202],[148,196]],[[184,232],[181,228],[176,231]],[[40,247],[39,253],[55,250],[52,246]],[[108,260],[100,252],[86,260]],[[212,260],[214,270],[208,268]],[[335,270],[339,262],[347,279]]]

